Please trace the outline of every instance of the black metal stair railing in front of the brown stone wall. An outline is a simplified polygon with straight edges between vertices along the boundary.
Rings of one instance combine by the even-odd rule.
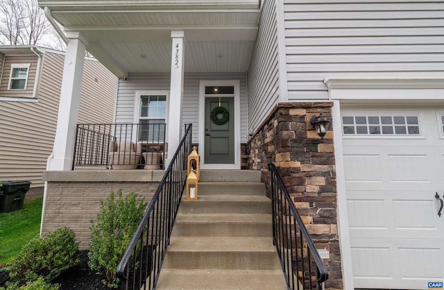
[[[328,279],[327,268],[275,165],[271,171],[271,200],[273,204],[273,243],[284,271],[289,289],[323,289]]]

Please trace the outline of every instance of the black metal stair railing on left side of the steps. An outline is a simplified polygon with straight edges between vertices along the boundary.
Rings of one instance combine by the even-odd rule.
[[[185,127],[176,154],[171,158],[139,228],[117,266],[122,289],[155,288],[187,181],[191,129],[191,124]]]

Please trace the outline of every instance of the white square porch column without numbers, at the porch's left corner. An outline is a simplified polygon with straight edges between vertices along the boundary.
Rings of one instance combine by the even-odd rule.
[[[67,38],[53,157],[46,170],[71,170],[73,161],[87,40],[80,33],[67,33]]]

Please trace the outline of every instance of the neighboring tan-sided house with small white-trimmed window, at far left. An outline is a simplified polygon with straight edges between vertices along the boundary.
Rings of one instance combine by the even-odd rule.
[[[0,46],[0,181],[31,181],[53,150],[65,53],[39,46]],[[117,80],[88,58],[78,123],[112,123]]]

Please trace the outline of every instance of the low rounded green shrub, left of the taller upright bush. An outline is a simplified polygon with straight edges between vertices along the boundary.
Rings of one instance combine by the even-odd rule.
[[[70,266],[78,263],[76,234],[69,228],[59,228],[46,237],[37,236],[22,248],[9,267],[12,281],[24,285],[42,278],[49,282]]]

